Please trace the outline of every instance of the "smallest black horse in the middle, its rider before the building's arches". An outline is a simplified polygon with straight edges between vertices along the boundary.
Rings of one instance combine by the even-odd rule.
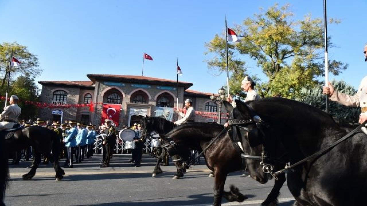
[[[145,118],[141,119],[141,125],[143,128],[142,135],[145,136],[146,138],[150,137],[152,133],[167,134],[173,128],[175,128],[175,124],[173,124],[173,122],[160,117],[145,116]],[[161,140],[161,142],[163,144],[167,143],[164,140]],[[154,167],[152,177],[155,177],[157,174],[163,173],[163,171],[160,168],[160,163],[163,161],[166,155],[167,151],[165,149],[162,149],[161,154],[157,158],[157,163],[156,166]],[[182,168],[181,164],[182,163],[179,161],[175,162],[177,171],[174,177],[172,177],[172,179],[179,179],[183,177],[183,173],[185,173],[186,170]]]

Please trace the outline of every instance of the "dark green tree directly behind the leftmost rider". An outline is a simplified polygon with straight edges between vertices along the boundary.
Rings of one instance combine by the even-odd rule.
[[[34,78],[27,76],[19,76],[15,81],[11,82],[9,89],[10,95],[17,95],[20,102],[19,107],[22,108],[22,113],[18,119],[32,119],[37,115],[37,107],[33,104],[26,104],[25,101],[37,102],[38,100],[38,88],[34,81]],[[4,102],[1,101],[4,105]]]

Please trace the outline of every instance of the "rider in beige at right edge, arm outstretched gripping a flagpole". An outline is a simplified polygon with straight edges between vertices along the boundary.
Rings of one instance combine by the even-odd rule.
[[[367,61],[367,44],[364,45],[364,57]],[[367,76],[364,77],[358,87],[355,95],[347,95],[335,91],[333,86],[328,82],[328,87],[323,87],[323,93],[327,94],[330,100],[350,107],[361,107],[361,114],[359,115],[359,123],[367,121]]]

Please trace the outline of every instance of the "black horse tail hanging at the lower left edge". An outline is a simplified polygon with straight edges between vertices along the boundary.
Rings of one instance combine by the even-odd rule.
[[[5,139],[0,137],[0,205],[4,205],[5,190],[9,184],[8,158],[5,151]]]

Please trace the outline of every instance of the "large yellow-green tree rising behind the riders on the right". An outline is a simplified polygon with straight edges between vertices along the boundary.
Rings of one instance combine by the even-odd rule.
[[[300,97],[302,88],[314,87],[319,83],[317,77],[324,76],[321,19],[306,15],[303,20],[294,21],[294,14],[288,7],[287,4],[279,8],[275,4],[266,11],[261,10],[260,14],[254,14],[254,18],[245,19],[243,25],[235,29],[243,37],[241,42],[228,44],[229,68],[233,74],[247,73],[245,61],[237,57],[241,55],[254,60],[269,78],[258,85],[262,97]],[[339,22],[331,19],[330,23]],[[207,61],[208,67],[225,71],[225,39],[216,35],[206,47],[208,51],[205,54],[215,55]],[[333,47],[330,37],[328,47]],[[334,75],[347,66],[329,59],[329,71]]]

